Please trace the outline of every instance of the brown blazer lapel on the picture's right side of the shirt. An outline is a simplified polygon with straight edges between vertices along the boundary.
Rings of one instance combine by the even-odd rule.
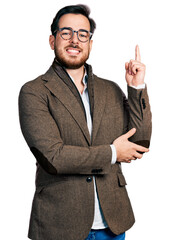
[[[92,144],[94,144],[97,136],[100,122],[104,114],[106,104],[106,87],[102,81],[98,81],[97,76],[94,75],[94,113],[93,113],[93,130],[92,130]]]

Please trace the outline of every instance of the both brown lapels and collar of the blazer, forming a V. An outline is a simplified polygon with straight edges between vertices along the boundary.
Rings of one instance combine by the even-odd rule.
[[[64,68],[60,66],[58,69],[59,71],[55,71],[54,66],[52,65],[50,69],[42,76],[42,79],[46,82],[45,86],[67,108],[81,128],[88,144],[91,145],[95,142],[95,138],[100,127],[100,122],[104,114],[106,103],[105,84],[103,81],[100,81],[97,76],[93,75],[91,66],[86,64],[86,70],[88,74],[87,87],[93,120],[92,136],[90,137],[86,117],[84,114],[84,106],[82,107],[82,102],[80,104],[81,97],[78,93],[78,90]]]

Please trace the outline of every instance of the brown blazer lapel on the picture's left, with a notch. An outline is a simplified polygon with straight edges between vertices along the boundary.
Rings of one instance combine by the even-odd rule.
[[[54,72],[51,67],[42,77],[46,81],[45,86],[54,94],[56,98],[67,108],[72,117],[81,128],[87,142],[91,145],[91,138],[87,127],[86,118],[83,109],[76,96],[67,86],[67,84]]]

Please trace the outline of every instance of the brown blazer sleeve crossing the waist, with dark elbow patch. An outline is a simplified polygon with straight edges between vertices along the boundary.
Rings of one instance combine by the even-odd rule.
[[[62,141],[48,100],[25,84],[19,95],[22,133],[37,162],[50,174],[106,174],[111,169],[109,145],[72,146]]]

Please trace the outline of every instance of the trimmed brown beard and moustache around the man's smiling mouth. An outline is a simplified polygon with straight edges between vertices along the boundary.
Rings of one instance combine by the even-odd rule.
[[[66,48],[68,47],[75,48],[82,51],[82,49],[80,49],[77,45],[70,44]],[[54,52],[55,52],[56,60],[66,69],[79,69],[86,63],[90,55],[90,50],[88,49],[87,53],[85,53],[79,60],[77,60],[77,56],[70,56],[70,57],[65,56],[63,51],[58,49],[56,45],[54,47]]]

